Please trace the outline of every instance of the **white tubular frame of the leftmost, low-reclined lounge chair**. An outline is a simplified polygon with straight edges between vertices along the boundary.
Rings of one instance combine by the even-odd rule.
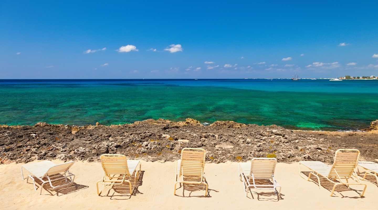
[[[57,165],[54,165],[52,167],[50,167],[45,174],[43,174],[43,176],[41,177],[37,177],[35,176],[37,179],[39,179],[39,181],[42,182],[41,184],[41,190],[39,192],[39,195],[42,194],[42,189],[43,189],[43,185],[46,184],[46,183],[49,183],[50,184],[50,187],[54,190],[55,188],[58,188],[58,187],[63,187],[65,185],[70,185],[74,182],[74,179],[75,179],[75,175],[73,173],[71,173],[68,169],[72,166],[70,165],[67,170],[64,172],[64,173],[56,173],[56,175],[53,175],[53,176],[49,176],[48,173],[50,171],[51,168],[54,168],[54,167],[57,167],[57,166],[61,166],[61,165],[65,165],[65,164],[73,164],[75,161],[70,161],[70,162],[65,162],[65,163],[62,163],[62,164],[57,164]],[[22,175],[22,180],[24,180],[24,175],[23,175],[23,170],[22,168],[24,168],[24,165],[21,167],[21,175]],[[25,168],[25,170],[27,170]],[[33,185],[34,185],[34,190],[37,191],[37,187],[36,187],[36,180],[33,178],[33,173],[31,173],[29,171],[29,174],[28,174],[28,177],[26,179],[26,183],[28,183],[29,181],[29,178],[31,180],[33,180]],[[47,180],[43,180],[43,178],[47,178]],[[57,185],[57,186],[54,186],[52,181],[56,181],[56,180],[60,180],[60,179],[65,179],[65,183],[64,184],[61,184],[61,185]],[[69,180],[69,181],[68,181]]]

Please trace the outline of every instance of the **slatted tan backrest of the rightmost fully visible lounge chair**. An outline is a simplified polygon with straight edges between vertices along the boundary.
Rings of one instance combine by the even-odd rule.
[[[359,150],[340,149],[335,153],[329,177],[349,178],[358,164]]]

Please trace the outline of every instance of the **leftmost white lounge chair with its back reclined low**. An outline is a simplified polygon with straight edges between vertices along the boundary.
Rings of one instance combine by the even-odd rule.
[[[29,178],[32,179],[33,184],[34,184],[34,190],[36,191],[37,191],[37,187],[36,187],[36,181],[34,177],[39,179],[42,182],[41,191],[39,192],[39,195],[41,195],[43,185],[46,183],[49,183],[51,188],[53,188],[53,190],[57,187],[63,187],[65,185],[72,184],[75,179],[75,175],[71,173],[70,171],[68,171],[68,169],[70,169],[70,167],[74,164],[74,162],[75,161],[65,162],[62,164],[54,164],[51,161],[41,161],[41,162],[26,164],[21,167],[22,179],[25,179],[23,175],[23,170],[22,170],[24,169],[29,172],[26,182],[29,181]],[[65,179],[65,182],[61,185],[54,186],[52,181],[56,181],[59,179]]]

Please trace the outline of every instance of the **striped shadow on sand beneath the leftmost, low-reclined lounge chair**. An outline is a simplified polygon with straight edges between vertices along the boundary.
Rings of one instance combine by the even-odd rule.
[[[37,189],[42,187],[41,186],[42,182],[39,179],[34,177],[34,180],[36,181]],[[46,181],[47,178],[43,178],[43,180]],[[51,181],[51,183],[53,184],[53,186],[62,185],[62,184],[65,183],[65,179],[59,179],[59,180],[56,180],[56,181]],[[62,186],[62,187],[57,187],[55,189],[52,189],[50,184],[46,183],[46,184],[43,185],[42,193],[47,191],[52,196],[54,196],[54,195],[61,196],[59,194],[67,195],[67,194],[70,194],[70,193],[73,193],[73,192],[76,192],[76,191],[79,191],[79,190],[82,190],[82,189],[85,189],[85,188],[88,188],[88,186],[77,184],[76,182],[73,182],[70,185],[65,185],[65,186]],[[56,193],[53,194],[52,192],[56,192]]]

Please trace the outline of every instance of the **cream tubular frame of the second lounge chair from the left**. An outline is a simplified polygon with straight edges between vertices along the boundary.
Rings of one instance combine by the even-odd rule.
[[[101,157],[103,156],[110,156],[110,157],[124,157],[125,158],[125,163],[126,163],[126,166],[127,166],[127,170],[125,170],[126,173],[123,173],[123,176],[122,174],[120,173],[106,173],[105,172],[105,168],[104,168],[104,165],[103,165],[103,162],[101,161],[101,165],[102,165],[102,169],[104,170],[104,176],[102,176],[102,179],[100,181],[98,181],[96,183],[96,187],[97,187],[97,195],[100,195],[102,190],[99,191],[99,183],[101,183],[102,185],[104,185],[104,187],[106,185],[122,185],[122,184],[126,184],[128,183],[129,184],[129,189],[130,189],[130,195],[132,195],[132,192],[135,188],[135,184],[136,184],[136,179],[139,179],[140,177],[140,174],[141,174],[141,168],[142,168],[142,164],[141,162],[139,161],[138,164],[136,165],[134,171],[132,174],[135,174],[134,175],[134,188],[132,188],[132,184],[130,182],[130,179],[132,178],[132,174],[130,174],[130,171],[129,171],[129,166],[127,165],[127,157],[124,156],[123,154],[102,154],[100,156],[100,160],[101,160]],[[139,165],[139,170],[136,170],[138,168],[138,165]],[[135,173],[134,173],[135,172]],[[121,175],[121,176],[116,176],[117,174]],[[109,176],[110,175],[110,176]],[[113,176],[111,176],[113,175]],[[129,176],[129,179],[126,179],[126,177]],[[108,179],[107,179],[108,178]],[[122,178],[121,180],[119,178]],[[112,180],[112,179],[115,179],[115,180]]]

